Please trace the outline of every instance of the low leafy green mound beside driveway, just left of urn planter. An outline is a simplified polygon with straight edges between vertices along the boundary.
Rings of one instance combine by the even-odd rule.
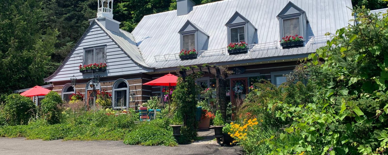
[[[150,122],[143,122],[134,131],[125,137],[127,145],[178,145],[172,136],[172,128],[168,126],[168,119],[155,119]]]

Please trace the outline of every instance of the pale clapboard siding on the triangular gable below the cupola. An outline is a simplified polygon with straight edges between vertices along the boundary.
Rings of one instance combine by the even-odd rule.
[[[71,55],[63,62],[64,64],[49,78],[47,82],[69,81],[74,75],[77,79],[90,78],[92,73],[80,73],[78,66],[83,63],[83,50],[88,47],[106,45],[107,71],[99,72],[101,77],[117,76],[124,74],[138,74],[151,70],[139,66],[111,39],[110,36],[94,22],[92,27],[83,35],[78,45],[74,47]]]

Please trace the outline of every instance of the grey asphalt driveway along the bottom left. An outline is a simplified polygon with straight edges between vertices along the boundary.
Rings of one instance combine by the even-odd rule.
[[[237,155],[241,147],[221,147],[214,143],[140,146],[122,141],[42,141],[0,138],[0,155]]]

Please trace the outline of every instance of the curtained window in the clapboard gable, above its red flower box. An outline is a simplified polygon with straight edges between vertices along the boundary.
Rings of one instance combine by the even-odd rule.
[[[105,47],[85,50],[85,64],[105,63]]]

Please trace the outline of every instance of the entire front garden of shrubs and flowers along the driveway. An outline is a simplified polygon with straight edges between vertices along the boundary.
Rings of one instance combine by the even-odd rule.
[[[211,126],[224,144],[240,145],[252,155],[387,155],[388,19],[358,11],[360,26],[339,29],[326,46],[285,75],[286,83],[253,83],[242,105],[233,107],[233,120],[223,119],[215,106],[216,90],[198,86],[195,79],[202,74],[195,72],[185,80],[179,77],[175,89],[163,90],[162,98],[144,103],[161,112],[139,123],[133,109],[105,108],[111,103],[106,91],[91,109],[80,93],[64,103],[52,91],[41,108],[30,98],[11,94],[0,100],[0,136],[176,146],[196,140],[198,126]],[[243,90],[238,84],[232,89]],[[196,121],[197,107],[201,121]],[[230,106],[227,114],[232,113]]]

